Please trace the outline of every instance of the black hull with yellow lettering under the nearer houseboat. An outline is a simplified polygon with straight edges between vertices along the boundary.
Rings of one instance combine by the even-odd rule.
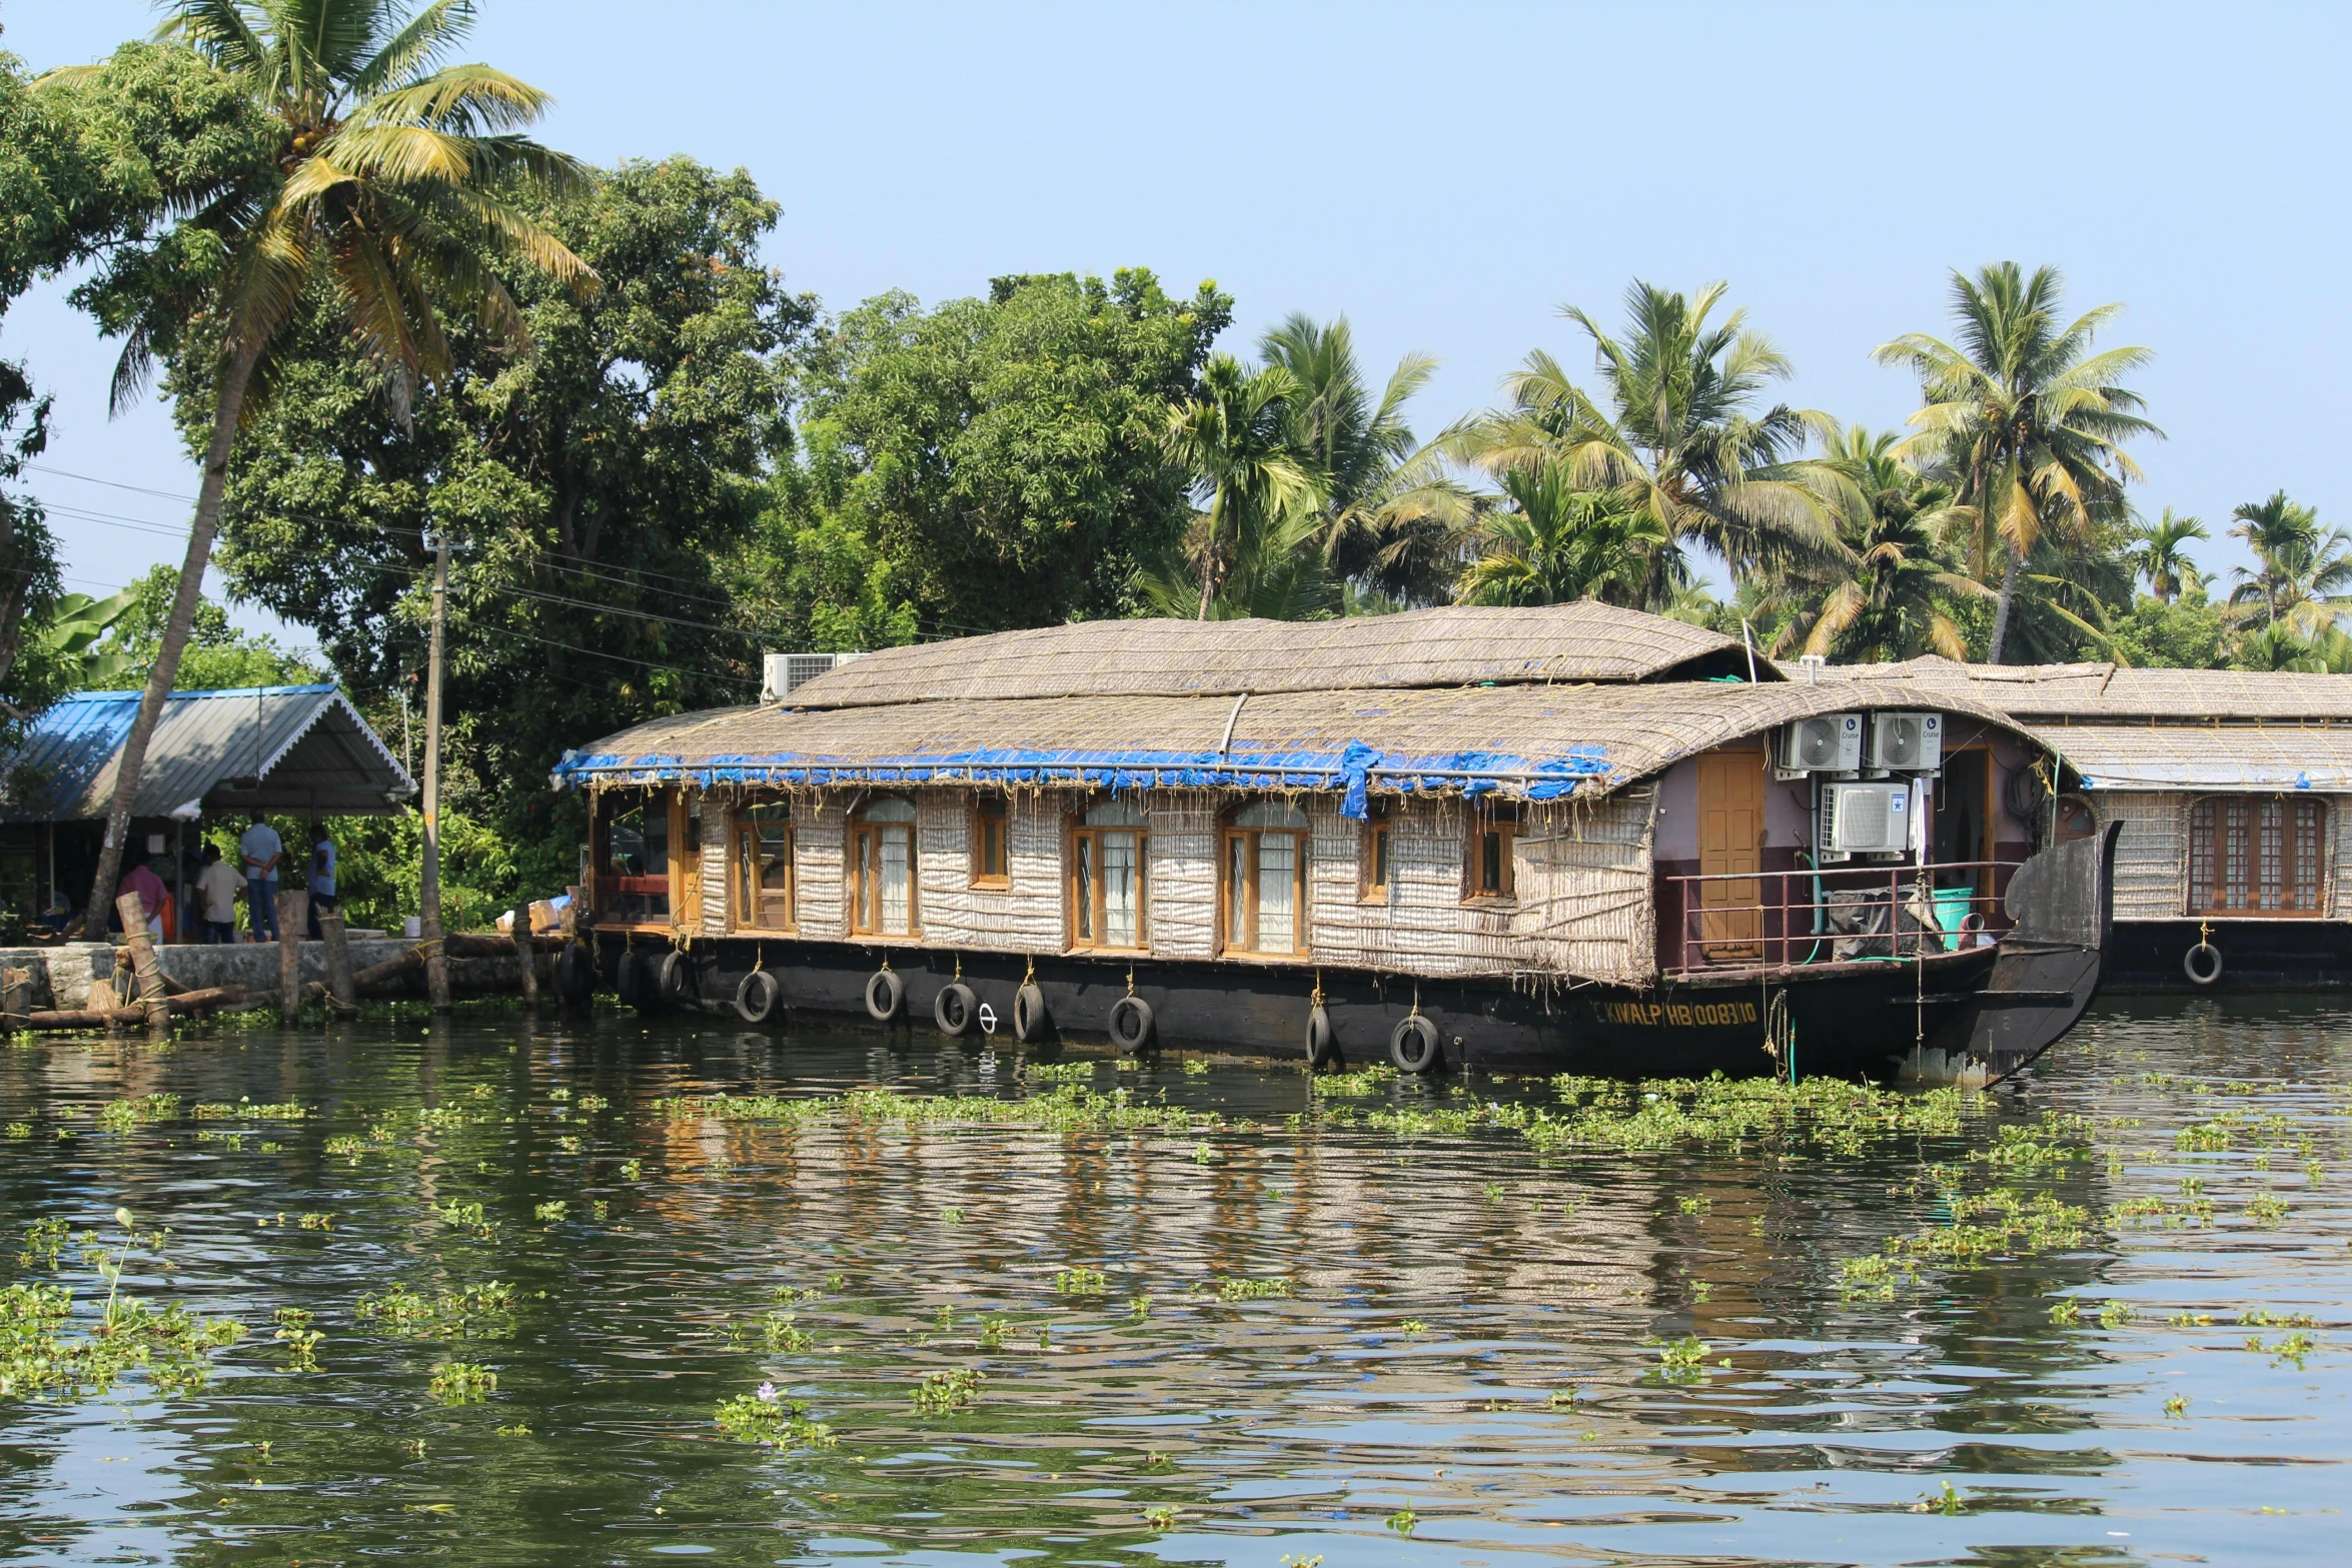
[[[604,983],[614,985],[623,938],[602,938]],[[866,983],[884,957],[906,985],[901,1016],[877,1025],[866,1011]],[[720,938],[691,947],[687,997],[654,1001],[734,1018],[734,997],[757,961],[776,976],[788,1011],[863,1020],[917,1037],[938,1037],[934,1001],[957,978],[997,1020],[995,1041],[1011,1041],[1014,992],[1030,973],[1044,992],[1054,1039],[1103,1044],[1110,1009],[1129,994],[1150,1004],[1157,1044],[1200,1051],[1303,1058],[1315,990],[1348,1065],[1390,1060],[1390,1034],[1416,1009],[1437,1025],[1446,1067],[1489,1072],[1590,1072],[1616,1077],[1691,1077],[1785,1072],[1766,1051],[1766,1018],[1778,999],[1795,1039],[1799,1074],[1886,1077],[1912,1063],[1922,1041],[1964,1027],[1997,952],[1955,952],[1926,961],[1816,964],[1766,976],[1625,987],[1550,980],[1414,980],[1367,971],[1270,964],[1183,964],[1164,959],[1084,959],[1049,954],[962,957],[931,950],[884,950],[851,943]],[[978,1041],[981,1027],[969,1039]]]

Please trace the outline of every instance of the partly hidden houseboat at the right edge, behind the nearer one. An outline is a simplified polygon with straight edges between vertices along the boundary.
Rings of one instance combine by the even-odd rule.
[[[2352,985],[2352,675],[1915,658],[1818,679],[1973,698],[2042,743],[2056,790],[2006,780],[2039,802],[2030,842],[2117,830],[2112,985]]]

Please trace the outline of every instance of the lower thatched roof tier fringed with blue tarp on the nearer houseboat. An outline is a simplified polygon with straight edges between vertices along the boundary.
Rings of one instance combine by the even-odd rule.
[[[1557,799],[1606,795],[1693,752],[1856,708],[1940,708],[2011,729],[1973,698],[1828,682],[946,698],[652,719],[567,755],[555,785],[1082,783]]]

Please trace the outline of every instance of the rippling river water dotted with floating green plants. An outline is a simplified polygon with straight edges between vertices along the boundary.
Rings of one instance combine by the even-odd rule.
[[[2347,1025],[2117,999],[1931,1114],[1599,1140],[630,1016],[16,1044],[0,1561],[2345,1561]],[[33,1387],[106,1267],[242,1340]]]

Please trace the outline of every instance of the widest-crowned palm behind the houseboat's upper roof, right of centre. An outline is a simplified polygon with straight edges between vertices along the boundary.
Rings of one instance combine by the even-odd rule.
[[[1581,491],[1611,489],[1670,538],[1722,555],[1733,578],[1837,557],[1837,529],[1795,461],[1823,418],[1757,407],[1790,364],[1745,310],[1710,322],[1724,287],[1689,299],[1635,280],[1621,339],[1562,306],[1592,339],[1599,397],[1536,350],[1503,383],[1510,407],[1444,437],[1449,449],[1496,477],[1557,468]]]

